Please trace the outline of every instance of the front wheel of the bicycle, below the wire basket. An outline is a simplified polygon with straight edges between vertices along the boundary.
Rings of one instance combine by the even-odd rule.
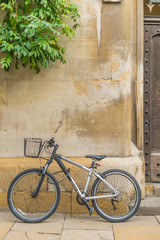
[[[49,172],[45,173],[37,196],[37,188],[42,171],[28,169],[17,175],[8,189],[8,205],[11,212],[23,222],[41,222],[51,216],[60,200],[60,188]]]

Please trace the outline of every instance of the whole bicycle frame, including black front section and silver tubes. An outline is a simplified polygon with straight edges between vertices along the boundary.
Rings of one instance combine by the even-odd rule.
[[[80,195],[80,197],[82,199],[86,199],[87,201],[88,200],[93,200],[93,199],[99,199],[99,198],[110,198],[110,197],[116,197],[117,196],[117,190],[114,189],[103,177],[101,177],[100,174],[96,173],[93,168],[94,168],[94,163],[95,163],[95,160],[92,161],[92,165],[91,167],[86,167],[82,164],[79,164],[77,162],[74,162],[68,158],[65,158],[61,155],[58,155],[58,154],[55,154],[55,153],[52,153],[52,156],[51,156],[51,159],[49,160],[50,162],[46,164],[45,166],[45,169],[48,168],[49,164],[53,161],[53,159],[55,159],[55,161],[57,162],[57,164],[59,165],[59,167],[62,169],[62,171],[66,174],[67,178],[69,179],[69,181],[72,183],[72,185],[74,186],[76,192]],[[66,169],[65,165],[63,164],[62,160],[72,164],[72,165],[75,165],[76,167],[79,167],[79,168],[82,168],[83,170],[85,171],[88,171],[88,178],[87,178],[87,181],[86,181],[86,184],[85,184],[85,187],[84,187],[84,191],[83,193],[80,191],[78,185],[76,184],[76,182],[74,181],[74,179],[72,178],[72,176],[69,174],[69,170]],[[106,184],[108,186],[108,188],[113,192],[113,194],[110,194],[110,195],[101,195],[101,196],[90,196],[90,197],[86,197],[85,194],[87,192],[87,189],[88,189],[88,185],[89,185],[89,182],[90,182],[90,179],[92,177],[92,174],[94,174],[97,178],[99,178],[104,184]]]

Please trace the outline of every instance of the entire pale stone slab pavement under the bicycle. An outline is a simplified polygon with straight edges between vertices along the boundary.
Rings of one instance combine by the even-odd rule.
[[[23,223],[0,212],[0,240],[160,240],[160,216],[110,223],[99,216],[55,213],[42,223]]]

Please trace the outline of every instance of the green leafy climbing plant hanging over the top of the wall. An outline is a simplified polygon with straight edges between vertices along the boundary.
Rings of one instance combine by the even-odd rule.
[[[65,63],[59,38],[71,39],[79,26],[78,6],[71,0],[0,0],[5,17],[0,24],[1,68],[30,66],[36,73],[56,60]],[[72,26],[70,26],[72,23]]]

